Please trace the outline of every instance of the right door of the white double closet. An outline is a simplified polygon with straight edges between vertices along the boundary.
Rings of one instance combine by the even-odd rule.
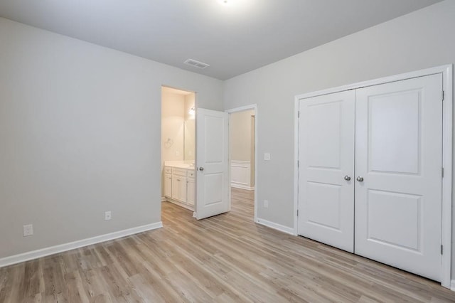
[[[441,74],[355,92],[355,253],[437,281],[441,92]]]

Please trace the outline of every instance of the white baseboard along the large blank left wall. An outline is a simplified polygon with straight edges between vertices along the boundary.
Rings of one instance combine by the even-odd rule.
[[[135,233],[142,233],[147,230],[153,230],[156,228],[162,228],[163,223],[151,223],[147,225],[138,226],[135,228],[129,228],[125,230],[119,230],[114,233],[107,233],[105,235],[97,235],[92,238],[77,240],[70,243],[60,244],[51,246],[49,248],[41,248],[40,250],[32,250],[31,252],[23,252],[18,255],[11,255],[9,257],[3,257],[0,259],[0,267],[5,267],[8,265],[14,265],[20,262],[25,262],[28,260],[38,259],[38,257],[45,257],[48,255],[54,255],[59,252],[65,252],[67,250],[73,250],[75,248],[82,248],[87,245],[92,245],[96,243],[105,242],[108,240],[114,240],[117,238],[126,237],[127,235],[134,235]]]

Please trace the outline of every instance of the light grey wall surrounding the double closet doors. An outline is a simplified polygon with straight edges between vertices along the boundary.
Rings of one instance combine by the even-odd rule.
[[[454,30],[446,0],[225,81],[226,109],[258,107],[257,216],[293,226],[295,95],[455,63]]]

